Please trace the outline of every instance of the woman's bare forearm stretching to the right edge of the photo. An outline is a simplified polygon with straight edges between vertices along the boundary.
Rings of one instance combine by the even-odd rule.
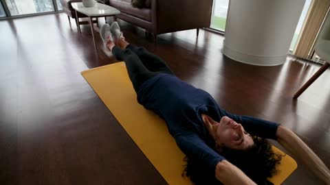
[[[325,166],[322,160],[311,151],[303,140],[294,134],[294,132],[281,125],[278,126],[276,136],[278,138],[278,143],[302,160],[315,175],[323,180],[323,182],[330,185],[329,169]]]

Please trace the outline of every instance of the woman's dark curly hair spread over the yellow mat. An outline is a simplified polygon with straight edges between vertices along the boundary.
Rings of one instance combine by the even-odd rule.
[[[235,150],[224,147],[220,153],[226,160],[241,169],[252,179],[256,184],[272,184],[267,180],[268,177],[276,175],[276,164],[280,164],[282,156],[279,153],[274,153],[272,145],[263,139],[256,136],[252,137],[254,145],[248,150]],[[184,161],[187,163],[184,167],[182,176],[189,177],[195,184],[221,184],[214,176],[214,171],[208,171],[205,165],[200,161],[188,158]]]

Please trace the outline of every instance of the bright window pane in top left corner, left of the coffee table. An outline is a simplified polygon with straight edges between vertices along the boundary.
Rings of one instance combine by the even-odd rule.
[[[12,16],[54,11],[52,0],[5,0]]]

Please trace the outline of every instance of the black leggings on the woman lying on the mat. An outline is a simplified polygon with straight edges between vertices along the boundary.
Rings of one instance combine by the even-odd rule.
[[[123,50],[115,46],[112,49],[112,53],[117,60],[124,60],[127,72],[129,73],[129,79],[131,79],[136,93],[147,79],[159,73],[174,75],[164,60],[143,47],[128,45]]]

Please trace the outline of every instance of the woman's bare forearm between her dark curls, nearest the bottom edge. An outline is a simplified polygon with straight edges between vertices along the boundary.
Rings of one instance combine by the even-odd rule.
[[[217,164],[215,177],[225,185],[256,185],[243,171],[227,160],[221,160]]]

